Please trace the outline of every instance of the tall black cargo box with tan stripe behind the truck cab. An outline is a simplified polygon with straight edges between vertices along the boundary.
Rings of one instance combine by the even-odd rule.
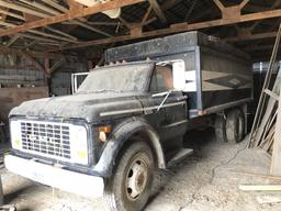
[[[248,102],[252,98],[250,58],[237,48],[200,32],[108,49],[106,62],[182,59],[186,64],[186,89],[189,116]]]

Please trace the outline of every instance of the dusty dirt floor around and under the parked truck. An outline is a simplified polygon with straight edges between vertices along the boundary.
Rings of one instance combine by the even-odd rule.
[[[281,184],[244,174],[268,174],[270,166],[265,152],[246,147],[247,138],[237,145],[222,144],[214,141],[212,131],[200,131],[186,140],[194,154],[157,174],[155,195],[146,211],[281,211],[281,191],[239,190],[239,185]],[[53,190],[5,169],[1,174],[5,202],[15,204],[20,211],[103,210],[102,199],[87,200]]]

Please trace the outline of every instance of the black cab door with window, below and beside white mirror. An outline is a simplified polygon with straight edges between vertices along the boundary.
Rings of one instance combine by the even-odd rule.
[[[156,65],[149,93],[154,104],[154,122],[162,141],[182,136],[187,129],[187,98],[173,80],[173,65]]]

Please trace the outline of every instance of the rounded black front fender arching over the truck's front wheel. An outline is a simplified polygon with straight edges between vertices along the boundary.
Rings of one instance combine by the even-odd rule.
[[[113,131],[112,138],[106,143],[94,170],[103,177],[110,177],[112,175],[113,167],[116,164],[120,151],[128,138],[139,131],[145,132],[148,135],[148,143],[157,156],[158,167],[166,168],[166,160],[159,135],[145,120],[134,118],[121,123],[116,130]]]

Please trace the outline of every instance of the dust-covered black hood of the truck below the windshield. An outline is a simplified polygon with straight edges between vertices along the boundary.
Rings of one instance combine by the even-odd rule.
[[[137,96],[133,93],[88,93],[66,97],[53,97],[25,101],[10,112],[10,116],[26,115],[40,118],[83,119],[95,122],[109,118],[132,115],[137,111],[143,112],[143,107]]]

